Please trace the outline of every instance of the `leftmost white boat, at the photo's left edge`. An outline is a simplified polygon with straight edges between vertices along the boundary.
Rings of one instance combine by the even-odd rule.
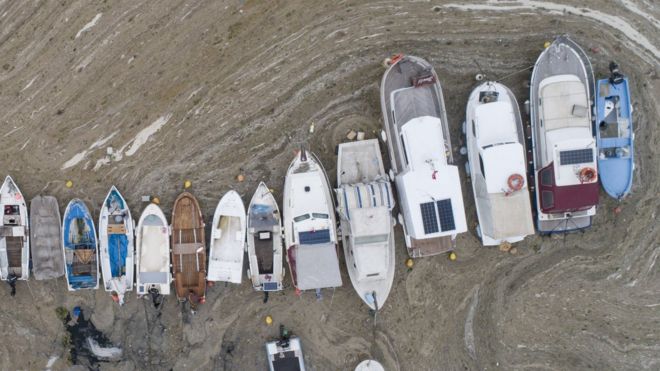
[[[0,279],[27,280],[30,276],[30,229],[27,205],[14,180],[7,176],[0,188]]]

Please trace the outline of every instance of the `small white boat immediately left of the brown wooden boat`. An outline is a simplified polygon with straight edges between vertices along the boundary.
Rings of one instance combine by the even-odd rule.
[[[135,250],[136,289],[138,295],[169,295],[170,232],[163,210],[149,204],[138,221]]]

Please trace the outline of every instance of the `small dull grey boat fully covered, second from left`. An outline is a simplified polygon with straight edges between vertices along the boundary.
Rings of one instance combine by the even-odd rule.
[[[60,223],[60,207],[55,197],[36,196],[30,201],[30,247],[36,280],[64,275]]]

